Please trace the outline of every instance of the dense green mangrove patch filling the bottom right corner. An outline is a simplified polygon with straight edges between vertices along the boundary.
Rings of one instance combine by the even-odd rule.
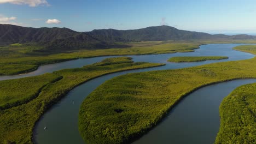
[[[215,143],[256,143],[256,83],[236,88],[219,107]]]

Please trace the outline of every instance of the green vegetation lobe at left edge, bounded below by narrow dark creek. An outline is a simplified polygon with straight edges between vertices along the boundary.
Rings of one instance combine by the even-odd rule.
[[[61,78],[55,74],[44,74],[0,81],[0,110],[27,103],[36,98],[44,86]]]

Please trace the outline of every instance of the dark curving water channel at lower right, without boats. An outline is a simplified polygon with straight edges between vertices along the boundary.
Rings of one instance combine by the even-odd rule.
[[[174,106],[159,125],[133,143],[214,143],[223,98],[236,87],[254,82],[256,79],[233,80],[198,89]]]

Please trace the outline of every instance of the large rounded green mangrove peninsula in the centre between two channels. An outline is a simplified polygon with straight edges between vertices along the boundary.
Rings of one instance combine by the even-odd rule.
[[[154,127],[179,100],[197,88],[256,78],[255,71],[256,57],[115,77],[83,101],[80,134],[89,143],[130,142]]]

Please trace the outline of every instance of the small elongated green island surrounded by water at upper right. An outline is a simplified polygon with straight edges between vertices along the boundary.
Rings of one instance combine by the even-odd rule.
[[[219,59],[228,59],[229,57],[224,56],[200,56],[200,57],[171,57],[168,59],[168,62],[201,62],[207,60],[219,60]]]

